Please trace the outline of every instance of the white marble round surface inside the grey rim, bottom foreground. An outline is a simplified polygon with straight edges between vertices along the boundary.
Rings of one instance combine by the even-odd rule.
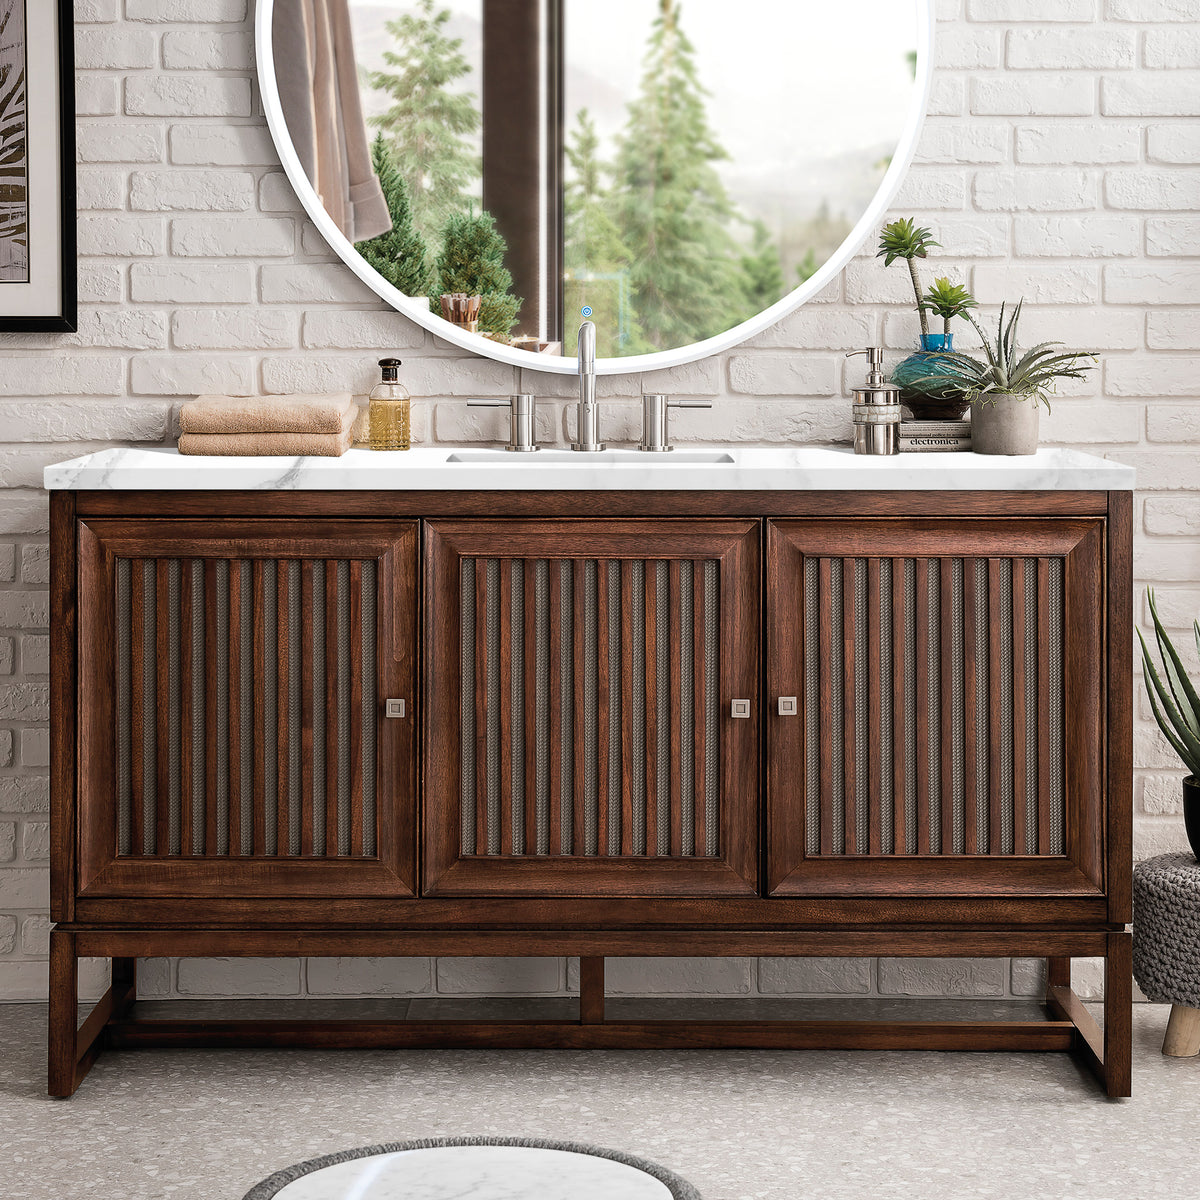
[[[671,1200],[625,1163],[530,1146],[437,1146],[336,1163],[281,1188],[278,1200]]]

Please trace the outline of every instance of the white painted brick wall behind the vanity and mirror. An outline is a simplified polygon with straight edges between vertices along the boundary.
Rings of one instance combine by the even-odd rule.
[[[76,0],[79,330],[0,335],[0,997],[46,986],[48,605],[44,462],[164,444],[198,388],[364,392],[402,352],[421,439],[503,437],[461,397],[546,397],[539,437],[571,436],[571,380],[464,359],[386,311],[325,247],[259,114],[247,0]],[[1134,463],[1136,576],[1182,630],[1200,611],[1200,8],[1196,0],[942,0],[938,73],[896,214],[943,244],[984,305],[1024,294],[1027,332],[1103,353],[1045,440]],[[868,246],[802,311],[722,359],[600,380],[605,433],[637,436],[643,388],[709,396],[682,439],[845,442],[841,354],[912,344],[907,282]],[[1139,600],[1140,619],[1146,619]],[[1183,841],[1182,772],[1138,700],[1135,844]],[[575,964],[488,959],[143,964],[143,992],[566,994]],[[95,992],[103,964],[89,964]],[[1021,996],[1016,960],[617,960],[614,991]],[[1096,994],[1096,964],[1076,984]]]

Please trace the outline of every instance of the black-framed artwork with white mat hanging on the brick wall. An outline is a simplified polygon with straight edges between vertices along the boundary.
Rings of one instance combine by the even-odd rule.
[[[0,330],[76,328],[72,0],[0,0]]]

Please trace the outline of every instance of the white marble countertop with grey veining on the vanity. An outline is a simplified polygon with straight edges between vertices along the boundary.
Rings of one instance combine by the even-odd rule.
[[[846,449],[745,446],[536,454],[454,446],[349,450],[341,458],[184,456],[100,450],[47,467],[44,486],[77,491],[1123,491],[1134,469],[1078,450],[856,456]]]

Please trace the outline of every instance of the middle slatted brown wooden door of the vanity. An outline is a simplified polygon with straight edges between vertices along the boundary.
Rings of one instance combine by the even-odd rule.
[[[425,893],[755,893],[758,522],[426,529]]]

